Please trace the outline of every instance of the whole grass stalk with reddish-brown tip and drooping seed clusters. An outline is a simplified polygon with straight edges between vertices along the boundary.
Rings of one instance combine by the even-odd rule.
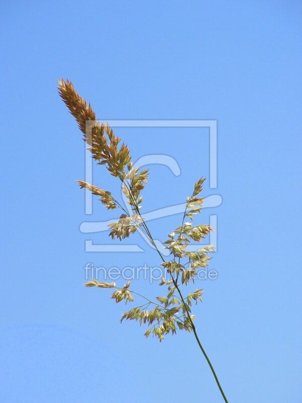
[[[87,105],[85,99],[75,91],[70,81],[64,81],[62,79],[58,81],[58,83],[59,94],[70,113],[77,120],[79,128],[84,133],[84,140],[89,146],[88,149],[91,151],[92,157],[96,160],[97,164],[105,165],[111,175],[120,179],[121,189],[126,196],[131,213],[128,213],[127,210],[122,207],[110,191],[78,180],[81,188],[86,188],[93,194],[100,196],[102,204],[105,205],[108,210],[119,209],[122,212],[117,222],[109,224],[111,230],[109,235],[112,239],[118,238],[122,240],[129,237],[138,229],[141,230],[149,242],[155,247],[162,260],[161,264],[165,267],[169,275],[169,279],[163,278],[159,283],[160,286],[167,287],[167,291],[165,293],[166,295],[156,297],[158,302],[154,302],[140,293],[130,290],[130,281],[119,288],[115,283],[100,283],[97,280],[91,280],[85,284],[86,287],[114,289],[111,298],[117,303],[121,301],[125,303],[133,302],[133,294],[147,301],[123,313],[121,318],[121,321],[124,319],[136,320],[139,321],[140,325],[147,325],[147,329],[144,333],[146,337],[153,334],[153,336],[157,337],[161,342],[165,339],[165,335],[170,332],[172,334],[175,334],[177,330],[193,332],[197,344],[210,366],[221,395],[224,401],[228,403],[214,368],[201,345],[194,325],[195,315],[191,312],[192,301],[195,301],[196,304],[199,301],[202,302],[201,295],[203,290],[197,289],[193,293],[187,294],[187,296],[184,296],[183,293],[184,287],[194,283],[194,279],[198,274],[197,269],[208,265],[210,259],[208,254],[214,250],[212,245],[206,245],[193,252],[187,250],[187,246],[191,241],[200,242],[202,238],[212,231],[212,228],[208,225],[199,224],[193,226],[192,224],[193,216],[200,213],[202,207],[203,198],[200,196],[200,193],[205,179],[200,178],[195,183],[191,196],[187,197],[181,226],[169,233],[168,240],[164,242],[171,256],[171,259],[166,260],[156,245],[140,213],[143,199],[140,193],[147,183],[148,170],[140,170],[139,167],[133,167],[128,147],[124,143],[119,146],[121,139],[114,135],[111,127],[108,124],[105,125],[96,120],[96,114],[91,105]],[[89,136],[86,133],[87,121],[93,123]],[[186,219],[190,221],[186,222]],[[183,259],[186,260],[185,263],[182,263]],[[186,267],[187,264],[189,264],[189,267]],[[181,279],[180,282],[179,279]],[[152,309],[148,310],[150,306]]]

